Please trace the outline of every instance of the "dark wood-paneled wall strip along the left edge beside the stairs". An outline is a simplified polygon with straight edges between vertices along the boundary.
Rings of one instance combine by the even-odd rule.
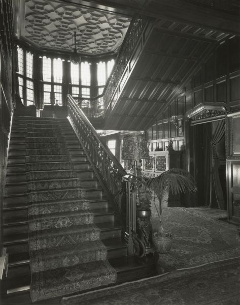
[[[13,111],[12,58],[13,18],[12,1],[0,0],[0,256],[2,253],[2,221],[4,180],[10,126]]]

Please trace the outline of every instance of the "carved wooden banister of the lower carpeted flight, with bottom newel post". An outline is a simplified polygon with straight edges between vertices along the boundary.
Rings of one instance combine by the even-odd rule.
[[[68,120],[78,136],[89,161],[104,186],[109,198],[113,201],[114,209],[122,221],[125,239],[128,241],[129,254],[133,254],[132,232],[135,232],[135,194],[132,192],[131,180],[124,168],[103,143],[80,109],[75,100],[67,96]]]

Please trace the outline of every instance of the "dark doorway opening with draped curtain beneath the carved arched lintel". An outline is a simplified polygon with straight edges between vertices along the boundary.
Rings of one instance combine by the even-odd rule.
[[[227,209],[225,122],[198,124],[189,131],[190,172],[198,189],[191,206]]]

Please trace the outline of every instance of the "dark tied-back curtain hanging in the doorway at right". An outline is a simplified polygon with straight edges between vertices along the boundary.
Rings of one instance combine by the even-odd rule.
[[[210,207],[214,207],[212,193],[215,191],[218,207],[224,209],[224,197],[219,177],[219,156],[217,155],[216,146],[221,142],[225,136],[225,120],[219,120],[212,123],[212,139],[211,139],[211,200]],[[213,190],[214,188],[214,190]]]

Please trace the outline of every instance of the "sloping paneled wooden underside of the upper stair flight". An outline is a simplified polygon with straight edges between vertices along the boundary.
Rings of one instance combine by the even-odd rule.
[[[159,19],[105,128],[146,130],[231,33]]]

